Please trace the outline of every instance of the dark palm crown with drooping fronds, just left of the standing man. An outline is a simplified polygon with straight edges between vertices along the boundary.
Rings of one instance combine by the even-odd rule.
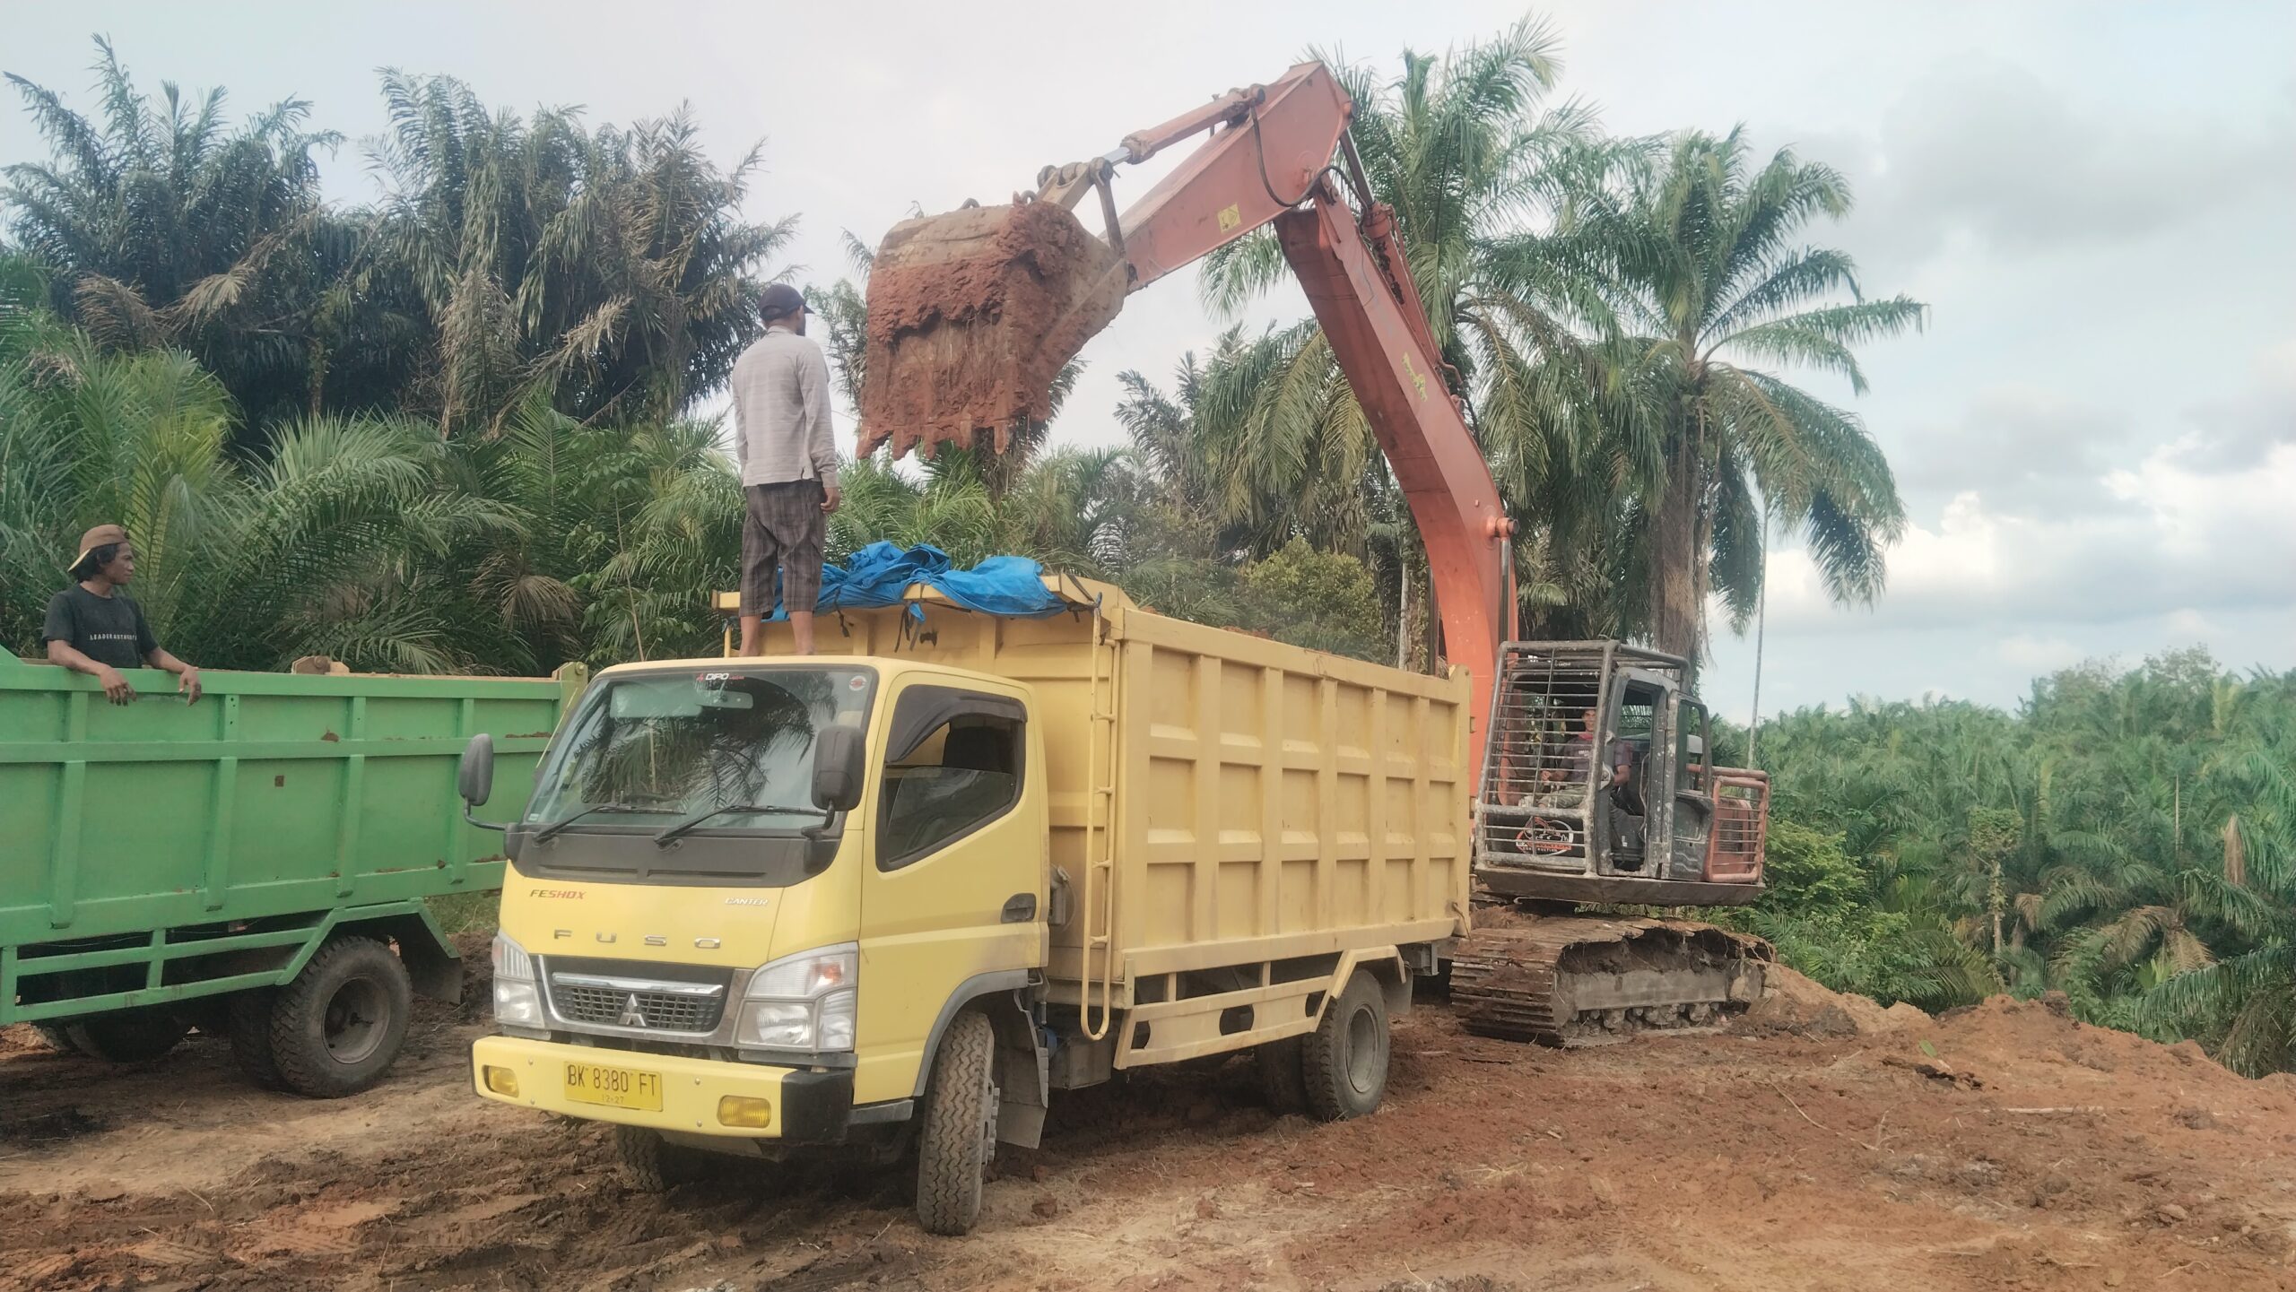
[[[794,218],[742,218],[760,149],[719,170],[687,108],[590,131],[489,112],[459,80],[383,71],[381,273],[429,347],[409,404],[448,434],[530,395],[581,420],[666,420],[721,386],[762,326],[762,264]]]

